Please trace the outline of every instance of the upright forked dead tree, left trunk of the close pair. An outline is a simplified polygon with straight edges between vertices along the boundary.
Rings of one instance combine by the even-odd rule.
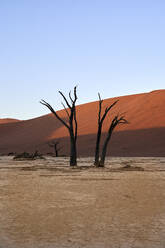
[[[99,164],[100,164],[99,154],[100,154],[100,141],[101,141],[103,122],[104,122],[108,112],[110,111],[110,109],[113,108],[113,106],[115,106],[115,104],[118,102],[118,100],[117,100],[114,103],[112,103],[109,107],[106,107],[104,114],[101,117],[103,100],[100,97],[100,93],[98,93],[98,96],[99,96],[99,113],[98,113],[98,129],[97,129],[96,148],[95,148],[95,162],[94,162],[94,165],[96,165],[96,166],[99,166]]]

